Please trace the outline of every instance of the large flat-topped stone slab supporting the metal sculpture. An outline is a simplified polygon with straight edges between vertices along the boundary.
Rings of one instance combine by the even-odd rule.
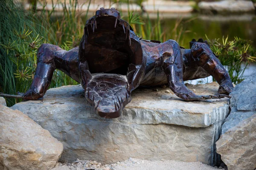
[[[218,91],[217,83],[188,87],[197,94]],[[117,119],[96,115],[80,85],[49,89],[43,102],[20,102],[12,108],[64,144],[62,161],[113,163],[133,157],[214,164],[215,141],[229,112],[228,99],[185,102],[166,93],[168,88],[155,88],[136,89]]]

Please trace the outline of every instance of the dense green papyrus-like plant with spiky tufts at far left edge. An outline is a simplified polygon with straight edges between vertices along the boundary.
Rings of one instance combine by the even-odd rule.
[[[8,94],[29,88],[42,43],[35,18],[16,4],[0,1],[0,92]],[[15,102],[17,99],[7,99],[8,105]]]

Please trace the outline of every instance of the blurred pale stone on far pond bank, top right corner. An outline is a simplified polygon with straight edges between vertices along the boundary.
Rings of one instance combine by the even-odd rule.
[[[217,12],[252,12],[255,11],[253,2],[250,0],[222,0],[216,2],[200,2],[201,10]]]

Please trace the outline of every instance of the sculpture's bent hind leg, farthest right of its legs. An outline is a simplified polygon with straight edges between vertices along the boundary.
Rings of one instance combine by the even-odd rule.
[[[204,68],[220,85],[218,93],[230,94],[233,90],[233,84],[226,69],[215,57],[209,46],[205,43],[195,42],[191,47],[189,55],[190,62],[195,66]]]

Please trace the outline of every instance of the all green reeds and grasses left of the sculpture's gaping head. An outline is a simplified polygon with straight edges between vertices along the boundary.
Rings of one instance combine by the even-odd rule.
[[[76,11],[77,0],[69,3],[70,6],[62,3],[64,15],[53,21],[56,7],[53,2],[52,11],[47,11],[47,4],[43,3],[41,13],[35,13],[34,8],[24,11],[13,0],[0,1],[0,92],[16,94],[29,89],[35,73],[37,49],[42,43],[60,45],[66,50],[79,44],[84,23],[81,13]],[[55,71],[53,77],[50,87],[77,84],[60,71]],[[19,101],[6,100],[9,106]]]

